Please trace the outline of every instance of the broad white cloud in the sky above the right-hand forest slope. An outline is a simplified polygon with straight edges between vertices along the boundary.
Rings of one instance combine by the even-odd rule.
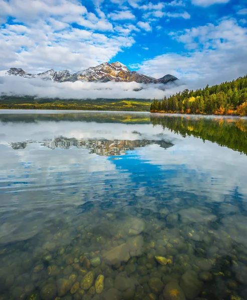
[[[195,49],[145,60],[136,65],[139,71],[156,78],[170,73],[190,88],[232,80],[247,72],[247,28],[234,19],[176,32],[174,38]]]

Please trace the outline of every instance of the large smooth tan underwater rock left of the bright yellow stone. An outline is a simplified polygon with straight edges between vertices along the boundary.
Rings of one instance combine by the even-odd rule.
[[[102,258],[109,265],[120,266],[121,262],[130,259],[129,247],[126,243],[119,245],[104,253]]]

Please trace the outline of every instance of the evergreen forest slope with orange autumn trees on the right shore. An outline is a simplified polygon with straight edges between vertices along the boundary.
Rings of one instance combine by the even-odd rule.
[[[247,115],[247,75],[203,89],[154,99],[150,112]]]

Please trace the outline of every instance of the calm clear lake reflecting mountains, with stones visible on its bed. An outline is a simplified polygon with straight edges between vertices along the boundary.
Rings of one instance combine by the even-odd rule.
[[[247,120],[0,111],[0,299],[247,299]]]

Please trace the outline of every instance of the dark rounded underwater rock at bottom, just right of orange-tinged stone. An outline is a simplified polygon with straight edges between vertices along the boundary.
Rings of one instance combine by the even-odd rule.
[[[192,270],[188,270],[182,275],[179,285],[189,300],[197,297],[203,288],[203,283],[198,280],[196,272]]]

